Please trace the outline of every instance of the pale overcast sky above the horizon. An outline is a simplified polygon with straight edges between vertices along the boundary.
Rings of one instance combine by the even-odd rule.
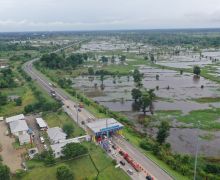
[[[0,0],[0,31],[220,27],[220,0]]]

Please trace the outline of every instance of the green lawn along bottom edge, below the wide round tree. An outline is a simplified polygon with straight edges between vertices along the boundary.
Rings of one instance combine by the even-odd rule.
[[[117,180],[130,179],[124,171],[121,169],[115,169],[111,162],[111,158],[108,157],[99,146],[92,143],[83,144],[89,148],[90,155],[100,171],[98,179],[108,180],[113,177]],[[66,162],[59,162],[52,167],[46,167],[42,162],[34,160],[28,161],[27,165],[30,168],[30,171],[22,178],[23,180],[55,180],[56,169],[60,165],[68,165],[77,180],[83,180],[85,178],[95,179],[98,174],[89,156],[83,156]]]

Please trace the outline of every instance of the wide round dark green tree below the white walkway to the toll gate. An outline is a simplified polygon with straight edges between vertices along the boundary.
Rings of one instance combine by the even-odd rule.
[[[79,143],[66,144],[62,150],[62,154],[66,159],[71,159],[87,153],[88,153],[88,149]]]

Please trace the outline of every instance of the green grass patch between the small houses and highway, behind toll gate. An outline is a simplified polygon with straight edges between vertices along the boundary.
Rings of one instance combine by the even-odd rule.
[[[43,119],[47,122],[49,127],[61,127],[65,123],[72,123],[74,126],[74,132],[70,137],[82,136],[85,134],[84,130],[77,126],[75,121],[73,121],[65,112],[49,112],[43,113]]]

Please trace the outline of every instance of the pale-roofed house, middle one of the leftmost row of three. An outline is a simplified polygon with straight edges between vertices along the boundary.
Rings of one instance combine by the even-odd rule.
[[[25,120],[17,120],[9,123],[11,133],[15,136],[28,134],[28,126]]]

